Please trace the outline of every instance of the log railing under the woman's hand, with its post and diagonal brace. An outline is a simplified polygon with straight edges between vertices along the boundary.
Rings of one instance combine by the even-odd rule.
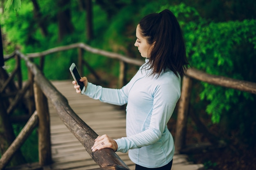
[[[67,99],[56,90],[52,83],[45,78],[38,66],[29,60],[27,55],[23,55],[19,51],[13,53],[11,57],[18,55],[25,60],[27,68],[33,75],[34,96],[36,103],[36,111],[31,115],[29,121],[21,130],[20,134],[13,141],[11,146],[4,152],[0,159],[0,169],[4,168],[14,155],[16,150],[20,148],[29,134],[38,124],[38,152],[40,166],[49,165],[52,161],[50,146],[50,129],[49,129],[49,109],[47,99],[52,102],[54,108],[73,135],[85,147],[92,159],[104,170],[129,170],[128,166],[118,157],[118,155],[110,148],[104,148],[97,152],[92,152],[91,148],[97,133],[94,132],[69,106]],[[4,89],[4,88],[3,88]],[[101,169],[97,168],[97,169]]]

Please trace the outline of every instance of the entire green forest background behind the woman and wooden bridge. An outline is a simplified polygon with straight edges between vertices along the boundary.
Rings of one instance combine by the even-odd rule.
[[[0,5],[4,54],[15,49],[34,53],[83,42],[143,60],[134,46],[137,23],[144,15],[170,9],[184,32],[191,67],[256,82],[255,0],[1,0]],[[90,10],[92,15],[88,17]],[[47,55],[45,76],[52,80],[71,79],[68,68],[77,62],[76,56],[76,50]],[[83,57],[101,77],[108,77],[106,86],[115,87],[118,61],[91,53],[84,53]],[[14,63],[6,62],[5,69],[11,72]],[[129,66],[128,70],[130,78],[137,67]],[[82,75],[90,72],[84,69]],[[24,63],[22,76],[27,79]],[[256,95],[194,81],[189,111],[198,115],[227,146],[193,153],[191,161],[216,170],[256,169],[255,103]],[[176,116],[172,117],[174,124]],[[187,143],[207,141],[191,119],[189,124]],[[13,126],[18,133],[19,126]],[[33,143],[34,139],[30,140]],[[36,152],[28,152],[26,144],[23,150],[28,162],[36,161]]]

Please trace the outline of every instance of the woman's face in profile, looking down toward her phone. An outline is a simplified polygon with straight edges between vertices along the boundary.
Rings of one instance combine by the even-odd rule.
[[[137,28],[136,28],[136,37],[137,37],[137,40],[135,41],[134,46],[138,47],[141,57],[145,57],[145,58],[150,57],[150,53],[153,45],[149,45],[146,38],[142,37],[139,25],[137,25]]]

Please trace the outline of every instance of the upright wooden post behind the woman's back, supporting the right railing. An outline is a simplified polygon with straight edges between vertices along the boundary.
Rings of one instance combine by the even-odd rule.
[[[182,80],[182,90],[178,107],[178,116],[175,132],[175,152],[179,153],[186,145],[186,123],[189,110],[189,98],[191,94],[192,79],[184,75]]]

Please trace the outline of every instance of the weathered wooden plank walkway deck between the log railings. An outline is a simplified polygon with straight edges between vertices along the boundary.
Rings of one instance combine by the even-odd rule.
[[[126,136],[125,110],[90,99],[85,95],[76,94],[72,80],[53,81],[52,83],[67,98],[74,112],[98,135],[107,134],[114,139]],[[89,170],[99,168],[82,144],[63,124],[52,104],[49,104],[49,110],[53,159],[49,169]],[[117,155],[131,170],[135,169],[128,153],[117,152]],[[172,170],[204,170],[202,164],[193,164],[186,158],[186,155],[174,155]]]

